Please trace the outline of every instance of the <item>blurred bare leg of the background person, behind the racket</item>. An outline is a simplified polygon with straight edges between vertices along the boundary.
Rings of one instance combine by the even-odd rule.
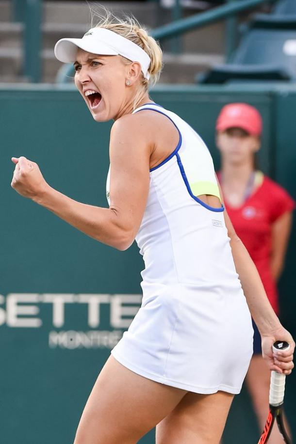
[[[268,414],[270,370],[260,354],[256,354],[252,357],[247,372],[246,382],[257,415],[260,432],[262,432]],[[284,422],[286,430],[290,434],[285,418]],[[282,444],[282,437],[277,424],[272,428],[268,444]]]

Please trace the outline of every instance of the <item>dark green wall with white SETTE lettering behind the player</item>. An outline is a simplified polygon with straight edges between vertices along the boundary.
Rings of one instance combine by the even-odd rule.
[[[218,168],[214,121],[231,101],[263,115],[260,165],[296,198],[296,90],[237,85],[164,87],[153,99],[177,112],[208,144]],[[0,87],[0,417],[5,444],[72,444],[83,406],[110,349],[140,303],[143,261],[87,238],[10,187],[12,156],[36,161],[49,184],[106,206],[111,123],[94,122],[71,87]],[[282,317],[296,336],[295,233],[280,282]],[[296,378],[287,379],[293,423]],[[296,423],[293,424],[296,435]],[[256,442],[245,390],[236,396],[224,444]],[[152,444],[153,432],[141,440]]]

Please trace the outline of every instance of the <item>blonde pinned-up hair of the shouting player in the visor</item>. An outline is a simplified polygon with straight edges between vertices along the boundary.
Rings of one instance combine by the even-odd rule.
[[[100,12],[102,10],[102,12]],[[137,90],[137,93],[133,101],[133,109],[137,108],[137,104],[140,102],[143,95],[148,91],[148,87],[154,85],[159,77],[163,67],[163,53],[162,50],[154,40],[153,37],[148,35],[148,32],[143,28],[140,23],[131,16],[124,16],[124,18],[116,17],[112,12],[108,11],[103,6],[97,7],[90,6],[91,12],[91,28],[105,28],[110,31],[131,40],[133,43],[144,49],[150,57],[151,63],[148,68],[150,74],[149,80],[146,79],[142,73],[142,84]],[[99,20],[99,21],[98,21]],[[122,56],[120,56],[122,57]],[[126,63],[131,63],[130,60],[122,57]]]

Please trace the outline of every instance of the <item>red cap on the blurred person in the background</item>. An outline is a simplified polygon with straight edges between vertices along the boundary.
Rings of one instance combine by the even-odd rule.
[[[259,111],[247,103],[230,103],[225,105],[217,118],[216,130],[242,128],[253,136],[262,132],[262,117]]]

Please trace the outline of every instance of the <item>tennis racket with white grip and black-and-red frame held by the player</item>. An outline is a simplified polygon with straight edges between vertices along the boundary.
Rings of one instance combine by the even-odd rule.
[[[274,343],[272,349],[277,350],[287,350],[290,345],[284,341],[277,341]],[[285,379],[286,375],[283,373],[278,373],[276,371],[271,372],[270,378],[270,389],[269,389],[269,413],[266,419],[266,424],[258,444],[265,444],[271,433],[272,426],[275,419],[277,419],[278,427],[280,433],[283,437],[284,443],[291,444],[292,441],[287,435],[284,428],[283,422],[283,403],[284,403],[284,393],[285,393]]]

